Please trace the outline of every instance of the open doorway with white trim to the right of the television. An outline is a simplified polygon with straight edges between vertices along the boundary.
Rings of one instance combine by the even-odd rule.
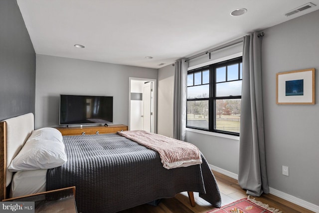
[[[156,133],[156,79],[130,78],[129,130]]]

